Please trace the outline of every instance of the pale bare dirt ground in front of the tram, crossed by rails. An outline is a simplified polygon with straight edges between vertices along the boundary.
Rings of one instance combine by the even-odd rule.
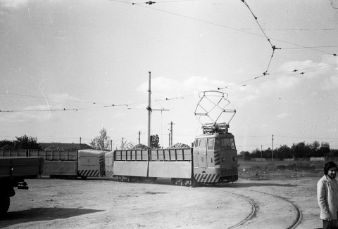
[[[321,228],[319,169],[239,169],[239,181],[198,188],[113,180],[27,180],[0,228]],[[256,212],[253,213],[253,209]]]

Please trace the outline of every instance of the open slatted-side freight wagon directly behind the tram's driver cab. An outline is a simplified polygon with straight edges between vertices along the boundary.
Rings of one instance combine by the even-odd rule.
[[[192,178],[192,149],[115,150],[105,160],[106,177],[118,181],[171,178],[189,185]]]

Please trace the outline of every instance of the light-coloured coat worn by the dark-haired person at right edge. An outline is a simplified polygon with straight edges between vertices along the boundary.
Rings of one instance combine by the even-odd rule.
[[[336,179],[324,175],[317,183],[317,200],[320,207],[320,218],[337,219],[338,186]]]

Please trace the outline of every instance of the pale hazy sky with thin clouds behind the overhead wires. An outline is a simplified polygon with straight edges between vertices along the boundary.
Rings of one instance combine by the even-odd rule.
[[[146,145],[151,72],[164,148],[170,122],[173,144],[191,145],[217,119],[195,116],[204,91],[236,110],[218,122],[238,152],[338,148],[337,1],[151,3],[0,0],[0,140],[89,144],[105,128],[114,147],[139,131]]]

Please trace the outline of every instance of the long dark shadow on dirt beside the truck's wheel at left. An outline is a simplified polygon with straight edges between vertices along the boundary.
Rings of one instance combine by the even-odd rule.
[[[84,214],[92,214],[104,210],[94,209],[62,209],[62,208],[33,208],[24,211],[10,211],[0,218],[0,228],[18,223],[32,221],[51,221],[59,218],[70,218]]]

